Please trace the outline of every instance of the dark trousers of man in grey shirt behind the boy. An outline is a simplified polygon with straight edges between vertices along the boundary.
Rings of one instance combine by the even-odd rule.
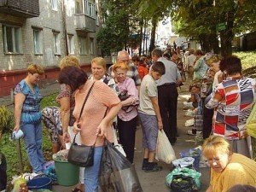
[[[177,140],[177,88],[176,84],[163,84],[157,87],[158,104],[164,131],[170,143]]]

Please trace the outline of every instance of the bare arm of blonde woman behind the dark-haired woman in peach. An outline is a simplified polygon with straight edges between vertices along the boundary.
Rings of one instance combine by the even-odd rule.
[[[70,97],[62,97],[60,99],[61,104],[61,124],[63,131],[63,139],[65,142],[69,142],[69,134],[67,132],[67,127],[69,125],[70,119]]]

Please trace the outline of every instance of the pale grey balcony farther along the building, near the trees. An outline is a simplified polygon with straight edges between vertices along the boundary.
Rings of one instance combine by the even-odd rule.
[[[84,14],[75,14],[76,30],[83,32],[96,32],[96,19]]]

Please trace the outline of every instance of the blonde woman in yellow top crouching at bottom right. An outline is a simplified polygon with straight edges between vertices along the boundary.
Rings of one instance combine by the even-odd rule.
[[[227,192],[236,184],[256,185],[256,162],[242,154],[233,154],[224,137],[208,137],[202,154],[211,166],[211,181],[207,192]]]

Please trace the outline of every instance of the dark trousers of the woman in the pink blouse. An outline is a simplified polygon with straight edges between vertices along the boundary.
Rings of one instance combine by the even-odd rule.
[[[127,160],[133,163],[135,133],[136,133],[137,117],[123,121],[118,117],[119,142],[123,146]]]

